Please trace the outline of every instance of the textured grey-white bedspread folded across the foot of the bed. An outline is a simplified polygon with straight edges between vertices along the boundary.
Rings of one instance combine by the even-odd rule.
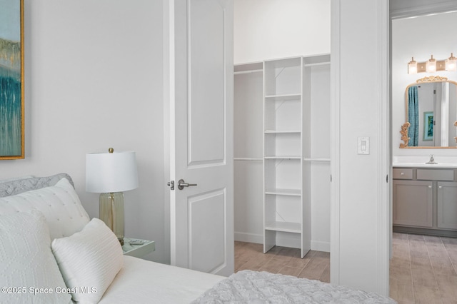
[[[377,293],[344,286],[243,270],[217,283],[192,303],[396,303]]]

